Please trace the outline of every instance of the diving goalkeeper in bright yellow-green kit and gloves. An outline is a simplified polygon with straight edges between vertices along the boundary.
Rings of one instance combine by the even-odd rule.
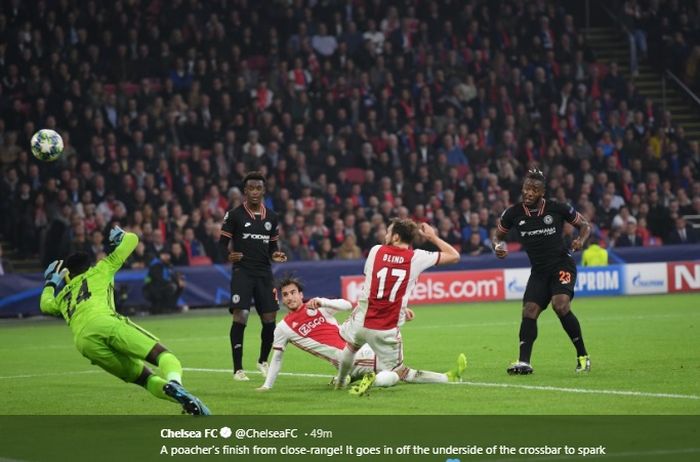
[[[128,383],[146,388],[153,396],[182,405],[192,415],[209,409],[182,386],[180,361],[148,331],[114,309],[114,275],[138,244],[138,236],[118,226],[110,231],[114,249],[95,266],[77,252],[52,262],[44,272],[41,311],[61,315],[73,331],[78,351],[93,364]],[[158,366],[156,375],[144,363]]]

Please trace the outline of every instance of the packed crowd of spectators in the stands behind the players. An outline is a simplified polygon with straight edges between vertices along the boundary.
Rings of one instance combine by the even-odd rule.
[[[390,216],[478,255],[531,166],[608,246],[697,238],[698,142],[559,2],[274,3],[8,2],[4,238],[99,258],[118,223],[142,238],[131,267],[164,248],[222,262],[223,216],[259,170],[291,260],[360,258]],[[31,156],[39,128],[62,134],[58,161]]]

